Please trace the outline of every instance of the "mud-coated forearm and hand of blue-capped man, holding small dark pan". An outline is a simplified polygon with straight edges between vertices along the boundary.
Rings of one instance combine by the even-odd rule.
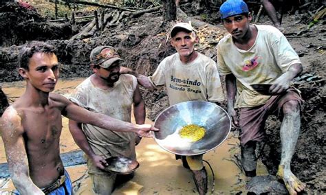
[[[303,71],[301,64],[294,64],[283,73],[279,78],[277,78],[274,84],[270,87],[272,93],[281,93],[286,91],[290,87],[290,82],[292,79],[296,78]]]

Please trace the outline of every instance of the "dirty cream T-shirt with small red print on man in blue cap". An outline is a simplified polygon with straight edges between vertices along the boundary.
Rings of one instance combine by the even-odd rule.
[[[219,73],[232,73],[237,78],[235,108],[265,104],[270,95],[261,95],[250,84],[272,84],[291,65],[301,63],[298,55],[285,36],[270,25],[254,25],[258,34],[254,45],[248,50],[239,49],[231,34],[217,46]]]

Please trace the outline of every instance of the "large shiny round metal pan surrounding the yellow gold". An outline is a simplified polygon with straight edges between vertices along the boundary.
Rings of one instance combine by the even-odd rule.
[[[204,127],[204,137],[195,142],[180,137],[180,130],[189,124]],[[160,129],[154,133],[154,139],[161,148],[192,156],[219,146],[230,133],[231,121],[228,113],[214,103],[188,101],[166,108],[157,116],[154,126]]]

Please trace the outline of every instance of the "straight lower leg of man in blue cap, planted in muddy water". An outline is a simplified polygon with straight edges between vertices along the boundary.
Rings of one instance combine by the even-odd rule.
[[[241,165],[246,176],[256,176],[256,145],[257,141],[248,141],[247,144],[241,146]]]

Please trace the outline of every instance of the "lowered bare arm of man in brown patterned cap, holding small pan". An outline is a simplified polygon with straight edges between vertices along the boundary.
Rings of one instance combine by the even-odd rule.
[[[85,154],[87,154],[87,156],[93,161],[96,167],[100,169],[104,169],[105,165],[107,165],[107,162],[103,157],[95,154],[94,151],[91,149],[87,141],[86,135],[82,130],[81,125],[82,125],[81,123],[69,119],[69,130],[70,133],[72,133],[72,137],[74,138],[74,141],[79,146],[79,148],[82,149],[85,152]]]

